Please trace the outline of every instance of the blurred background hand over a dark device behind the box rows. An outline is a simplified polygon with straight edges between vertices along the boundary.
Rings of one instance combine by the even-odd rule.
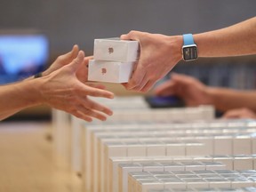
[[[157,86],[154,92],[158,96],[178,96],[187,106],[211,104],[208,87],[192,76],[172,73],[171,79]]]

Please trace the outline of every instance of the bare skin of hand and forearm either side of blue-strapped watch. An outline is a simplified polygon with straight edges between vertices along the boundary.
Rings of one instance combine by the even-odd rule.
[[[256,17],[219,30],[195,34],[198,57],[227,57],[256,53]],[[164,36],[132,30],[121,39],[140,43],[140,60],[127,90],[148,92],[182,60],[182,36]]]

